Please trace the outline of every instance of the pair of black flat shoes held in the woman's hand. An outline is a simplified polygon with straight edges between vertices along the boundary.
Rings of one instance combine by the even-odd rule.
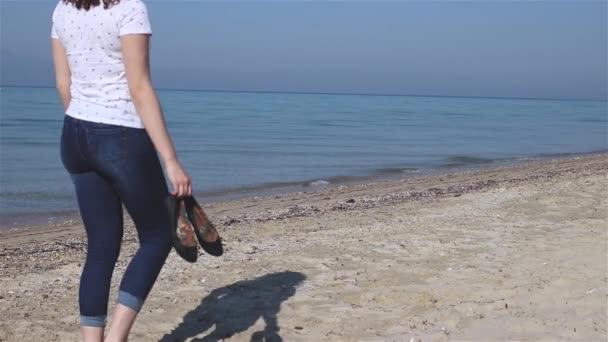
[[[217,229],[193,196],[177,198],[169,195],[166,202],[171,213],[171,239],[179,256],[188,262],[195,262],[198,257],[196,240],[208,254],[224,254]]]

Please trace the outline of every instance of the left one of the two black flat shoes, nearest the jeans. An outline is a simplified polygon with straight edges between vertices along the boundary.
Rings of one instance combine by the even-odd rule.
[[[194,229],[188,221],[186,204],[183,199],[169,195],[165,200],[171,215],[171,242],[177,254],[188,262],[198,257]]]

